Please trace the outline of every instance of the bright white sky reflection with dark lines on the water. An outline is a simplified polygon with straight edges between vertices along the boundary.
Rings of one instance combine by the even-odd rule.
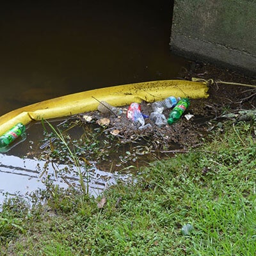
[[[127,180],[128,175],[118,175],[100,171],[96,166],[90,170],[80,168],[84,177],[86,191],[91,196],[98,196],[104,189],[116,184],[116,179]],[[5,194],[30,195],[36,189],[45,189],[45,181],[58,184],[61,188],[81,188],[79,172],[76,166],[51,163],[45,166],[45,161],[38,159],[22,159],[17,156],[0,154],[0,205]]]

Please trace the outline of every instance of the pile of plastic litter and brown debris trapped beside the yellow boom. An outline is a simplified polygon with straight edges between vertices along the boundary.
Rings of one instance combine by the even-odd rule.
[[[152,104],[132,102],[130,106],[116,108],[119,109],[118,115],[111,110],[106,111],[104,108],[102,111],[102,106],[100,106],[102,102],[99,102],[98,111],[83,113],[78,117],[85,125],[96,123],[100,127],[104,127],[104,132],[117,136],[122,143],[136,143],[143,139],[150,141],[154,145],[154,150],[164,152],[177,147],[184,148],[195,145],[198,143],[202,131],[198,134],[200,129],[198,130],[198,124],[193,122],[194,115],[188,112],[188,106],[184,108],[184,105],[180,104],[179,118],[175,120],[175,124],[169,125],[166,117],[172,113],[171,108],[179,106],[180,98],[168,97],[168,100],[171,103],[166,104],[167,99]],[[196,100],[192,100],[192,102],[196,102]],[[107,106],[108,102],[103,104]],[[108,108],[115,107],[108,104]],[[182,116],[183,113],[186,115]]]

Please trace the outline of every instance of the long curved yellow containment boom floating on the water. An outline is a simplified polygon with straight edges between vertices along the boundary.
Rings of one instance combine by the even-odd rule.
[[[146,102],[163,100],[171,95],[191,99],[205,98],[208,97],[207,90],[206,82],[162,80],[73,93],[6,113],[0,117],[0,136],[19,122],[27,125],[32,120],[40,121],[42,118],[58,118],[96,110],[99,105],[97,100],[104,100],[113,106],[125,106],[143,100]]]

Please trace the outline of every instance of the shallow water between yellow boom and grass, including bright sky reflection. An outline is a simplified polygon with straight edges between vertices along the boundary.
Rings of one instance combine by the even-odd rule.
[[[51,124],[58,126],[65,122],[67,120],[58,119],[53,120]],[[48,132],[51,132],[50,127],[47,125],[44,127]],[[108,172],[110,163],[106,164],[107,171],[102,171],[95,164],[85,166],[84,162],[78,169],[72,164],[57,164],[54,161],[40,160],[44,127],[40,122],[31,122],[30,127],[26,129],[26,140],[13,142],[15,147],[4,154],[0,154],[0,205],[3,203],[6,193],[8,196],[30,195],[36,189],[45,189],[45,182],[49,180],[61,188],[72,186],[81,189],[80,171],[91,196],[100,195],[108,186],[116,184],[116,180],[129,179],[130,176],[127,174]],[[70,130],[72,138],[79,138],[81,134],[83,134],[83,129],[79,127]],[[33,138],[34,140],[31,140]]]

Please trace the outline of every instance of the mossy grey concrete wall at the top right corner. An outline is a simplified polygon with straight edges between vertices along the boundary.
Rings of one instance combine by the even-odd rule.
[[[170,46],[256,74],[256,0],[175,0]]]

